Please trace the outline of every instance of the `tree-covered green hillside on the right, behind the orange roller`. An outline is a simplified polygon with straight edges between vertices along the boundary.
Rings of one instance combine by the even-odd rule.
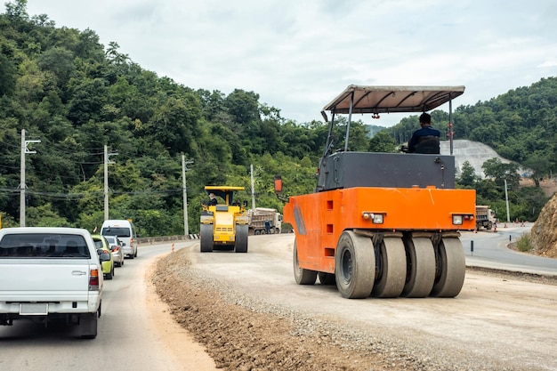
[[[397,143],[402,143],[408,141],[416,122],[417,117],[406,117],[386,131]],[[454,139],[480,141],[513,161],[513,164],[502,164],[488,159],[482,166],[486,179],[471,177],[474,169],[472,173],[470,168],[460,169],[459,184],[475,189],[476,203],[492,206],[502,220],[506,220],[507,198],[510,219],[536,220],[547,202],[539,181],[557,170],[557,78],[542,78],[529,87],[511,90],[490,101],[457,107],[452,122]],[[432,126],[448,137],[448,113],[433,111]],[[519,169],[527,169],[535,188],[519,187],[519,173],[523,173]]]

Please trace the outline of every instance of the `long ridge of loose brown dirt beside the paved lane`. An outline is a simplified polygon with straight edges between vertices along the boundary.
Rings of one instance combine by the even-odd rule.
[[[190,276],[182,252],[157,262],[152,278],[157,294],[174,319],[206,347],[217,368],[224,371],[397,371],[369,352],[349,351],[330,336],[301,334],[292,319],[249,311],[223,301],[218,291]],[[366,365],[366,366],[364,366]]]

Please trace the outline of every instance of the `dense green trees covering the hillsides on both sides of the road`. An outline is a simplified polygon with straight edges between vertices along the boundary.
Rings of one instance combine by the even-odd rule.
[[[105,148],[113,154],[109,217],[133,219],[143,236],[183,233],[182,157],[188,163],[191,233],[198,231],[205,185],[244,186],[246,192],[236,199],[251,204],[250,165],[256,206],[282,209],[272,190],[275,174],[282,176],[288,194],[313,190],[326,124],[281,117],[254,92],[193,90],[158,77],[119,52],[117,43],[105,47],[91,29],[56,28],[45,14],[29,17],[26,5],[26,0],[7,3],[0,14],[4,226],[19,225],[22,129],[26,140],[40,140],[29,144],[36,153],[25,155],[27,225],[100,226]],[[557,80],[548,78],[459,107],[456,136],[487,143],[541,176],[555,165],[555,90]],[[434,111],[432,118],[445,130],[446,113]],[[341,120],[335,130],[343,132],[345,124]],[[416,117],[408,117],[370,139],[366,126],[354,122],[349,147],[392,152],[415,129]],[[497,176],[488,180],[495,189],[485,186],[486,180],[460,181],[480,189],[481,203],[493,204],[501,200]],[[538,198],[529,192],[529,198]],[[522,216],[518,206],[516,213]]]

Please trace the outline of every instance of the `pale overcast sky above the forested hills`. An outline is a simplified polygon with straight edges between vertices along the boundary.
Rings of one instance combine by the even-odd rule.
[[[159,77],[258,93],[298,123],[322,120],[352,84],[464,85],[456,108],[557,76],[554,0],[28,0],[27,9],[59,28],[91,28]],[[404,116],[357,118],[390,126]]]

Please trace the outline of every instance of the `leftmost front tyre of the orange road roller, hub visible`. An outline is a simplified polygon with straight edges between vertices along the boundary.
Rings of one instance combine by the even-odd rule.
[[[335,253],[336,287],[348,299],[371,294],[375,280],[375,253],[371,239],[344,231]]]

